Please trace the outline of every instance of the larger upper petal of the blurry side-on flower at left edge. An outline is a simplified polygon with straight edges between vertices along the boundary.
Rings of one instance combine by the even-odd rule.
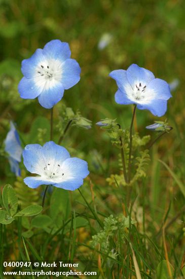
[[[5,151],[16,161],[21,161],[22,147],[19,140],[18,132],[13,124],[10,123],[11,128],[5,140]]]

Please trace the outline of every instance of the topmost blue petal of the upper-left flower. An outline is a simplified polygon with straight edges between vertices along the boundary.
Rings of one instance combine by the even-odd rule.
[[[61,61],[70,58],[71,54],[68,43],[62,43],[60,40],[52,40],[47,43],[43,53],[49,59],[60,59]]]

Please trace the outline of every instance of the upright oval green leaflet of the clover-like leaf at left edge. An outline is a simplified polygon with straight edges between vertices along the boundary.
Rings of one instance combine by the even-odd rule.
[[[18,200],[13,187],[7,184],[3,188],[2,193],[3,203],[7,212],[13,216],[17,212]]]

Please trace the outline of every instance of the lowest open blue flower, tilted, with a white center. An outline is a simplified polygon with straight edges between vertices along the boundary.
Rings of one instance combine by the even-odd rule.
[[[27,170],[39,175],[24,179],[30,188],[53,185],[73,191],[89,175],[86,161],[70,158],[68,151],[54,142],[48,142],[43,147],[38,144],[27,145],[23,151],[23,159]]]

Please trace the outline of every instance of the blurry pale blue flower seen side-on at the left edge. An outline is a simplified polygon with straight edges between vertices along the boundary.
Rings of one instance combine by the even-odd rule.
[[[14,172],[16,176],[20,176],[19,162],[21,162],[22,147],[18,132],[12,121],[10,122],[10,131],[5,140],[5,151],[9,154],[8,159],[12,172]]]

